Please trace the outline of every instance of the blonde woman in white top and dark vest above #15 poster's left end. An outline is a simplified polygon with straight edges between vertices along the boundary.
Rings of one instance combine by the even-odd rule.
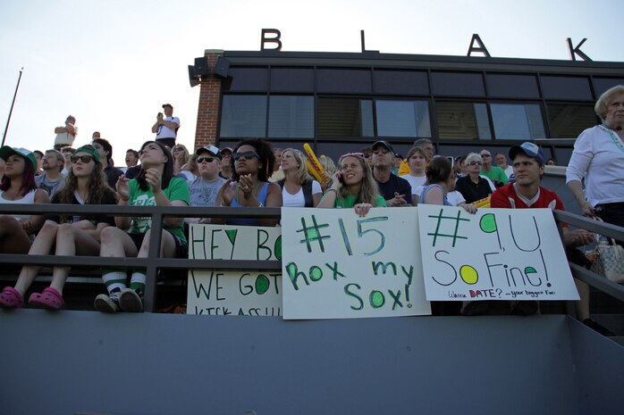
[[[316,180],[308,178],[308,167],[299,150],[287,148],[282,151],[284,178],[277,182],[282,187],[284,207],[316,207],[323,192]]]

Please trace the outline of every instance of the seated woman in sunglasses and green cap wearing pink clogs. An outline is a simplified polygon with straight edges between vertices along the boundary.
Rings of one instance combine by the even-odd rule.
[[[65,184],[55,193],[52,203],[63,204],[115,204],[116,195],[106,184],[100,155],[92,145],[84,145],[72,154],[72,170]],[[46,223],[30,247],[30,255],[47,255],[55,247],[55,255],[97,255],[100,250],[100,233],[114,226],[114,219],[105,215],[48,216]],[[38,265],[25,265],[13,288],[6,287],[0,295],[0,306],[21,308],[23,298],[37,277]],[[64,306],[63,286],[69,274],[68,267],[55,267],[52,282],[42,293],[30,295],[29,303],[36,308],[60,310]],[[13,301],[11,301],[13,300]]]

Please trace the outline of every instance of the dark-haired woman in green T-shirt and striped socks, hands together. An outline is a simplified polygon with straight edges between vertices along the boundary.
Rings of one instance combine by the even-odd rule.
[[[188,206],[189,187],[186,180],[173,176],[173,156],[169,149],[156,141],[148,141],[139,151],[142,170],[138,178],[117,180],[117,194],[122,206]],[[122,216],[114,219],[117,228],[102,232],[100,256],[147,258],[151,217]],[[129,232],[124,229],[130,228]],[[182,218],[163,219],[160,245],[163,258],[186,258],[188,245],[184,237]],[[94,303],[102,312],[143,311],[143,293],[147,280],[145,269],[132,272],[130,287],[126,285],[126,270],[103,269],[102,279],[108,295],[97,295]]]

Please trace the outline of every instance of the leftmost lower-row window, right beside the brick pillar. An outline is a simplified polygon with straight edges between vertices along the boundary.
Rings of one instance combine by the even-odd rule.
[[[266,137],[265,95],[223,95],[221,137]]]

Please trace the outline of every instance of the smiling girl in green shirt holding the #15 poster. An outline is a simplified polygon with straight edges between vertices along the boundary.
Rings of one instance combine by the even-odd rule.
[[[333,174],[332,184],[317,207],[353,208],[360,217],[366,216],[372,207],[385,207],[385,199],[379,194],[364,154],[342,155],[338,168]]]

